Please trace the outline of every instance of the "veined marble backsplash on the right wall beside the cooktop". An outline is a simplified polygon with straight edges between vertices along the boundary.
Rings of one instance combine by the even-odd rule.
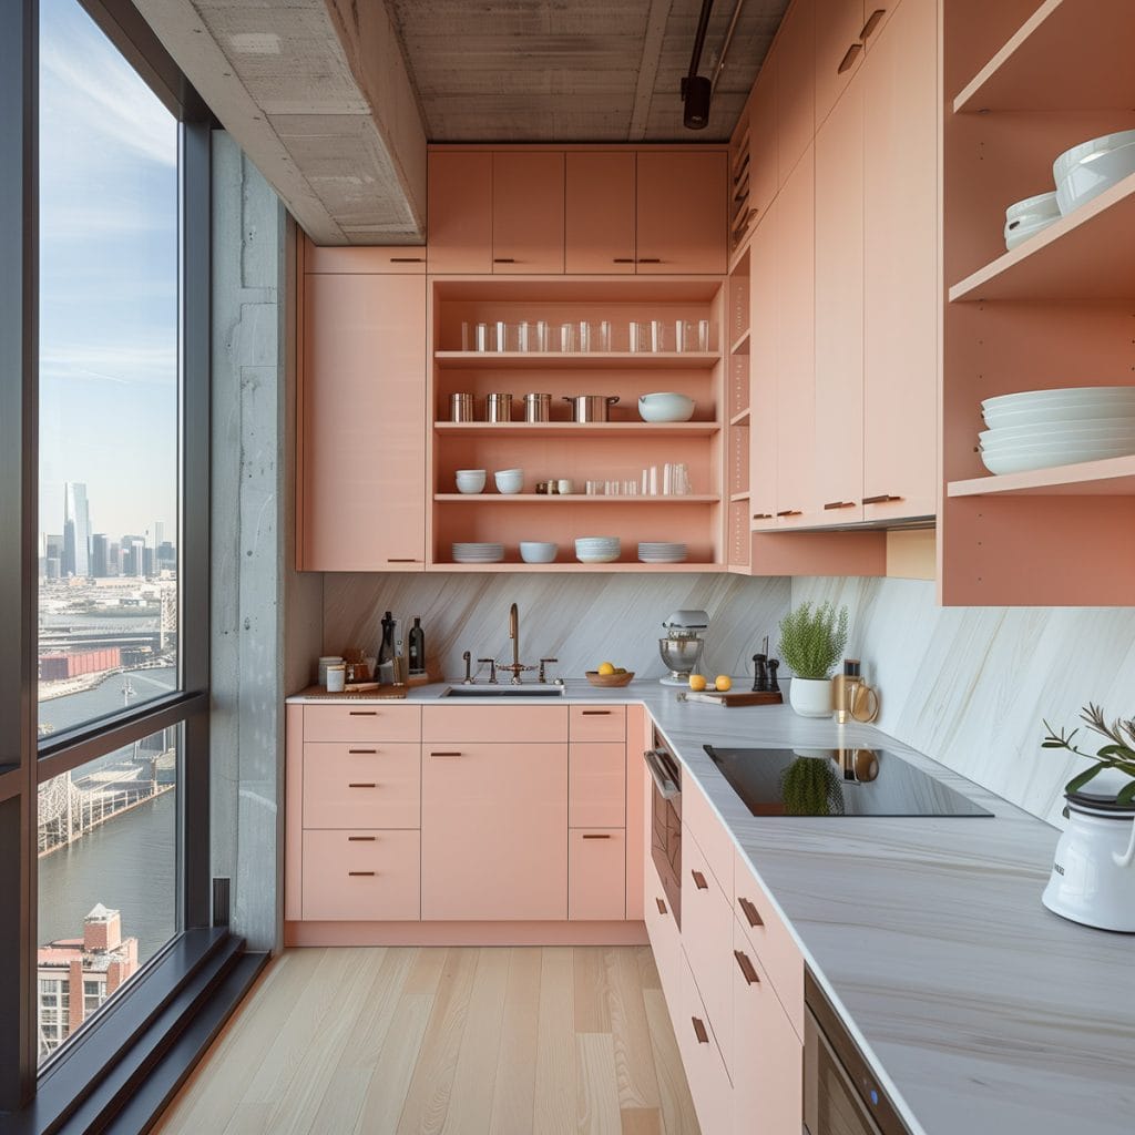
[[[1058,826],[1085,762],[1042,749],[1042,718],[1071,728],[1090,700],[1135,715],[1135,609],[939,607],[934,583],[900,579],[793,580],[805,599],[848,605],[881,729]]]

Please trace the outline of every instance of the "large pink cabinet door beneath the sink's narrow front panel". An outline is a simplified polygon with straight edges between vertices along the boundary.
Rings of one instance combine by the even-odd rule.
[[[422,918],[566,917],[568,746],[424,743]]]

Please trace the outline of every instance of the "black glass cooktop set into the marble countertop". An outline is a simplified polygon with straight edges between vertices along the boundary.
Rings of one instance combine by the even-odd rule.
[[[705,746],[755,816],[991,816],[886,749]]]

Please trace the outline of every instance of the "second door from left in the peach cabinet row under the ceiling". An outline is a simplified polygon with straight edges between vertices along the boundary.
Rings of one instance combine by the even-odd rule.
[[[493,271],[564,270],[564,155],[502,150],[493,154]]]

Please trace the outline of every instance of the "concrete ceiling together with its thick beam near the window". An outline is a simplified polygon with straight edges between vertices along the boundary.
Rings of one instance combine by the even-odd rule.
[[[732,132],[788,0],[134,0],[318,244],[414,244],[426,143],[714,142]],[[725,66],[726,30],[737,17]]]

